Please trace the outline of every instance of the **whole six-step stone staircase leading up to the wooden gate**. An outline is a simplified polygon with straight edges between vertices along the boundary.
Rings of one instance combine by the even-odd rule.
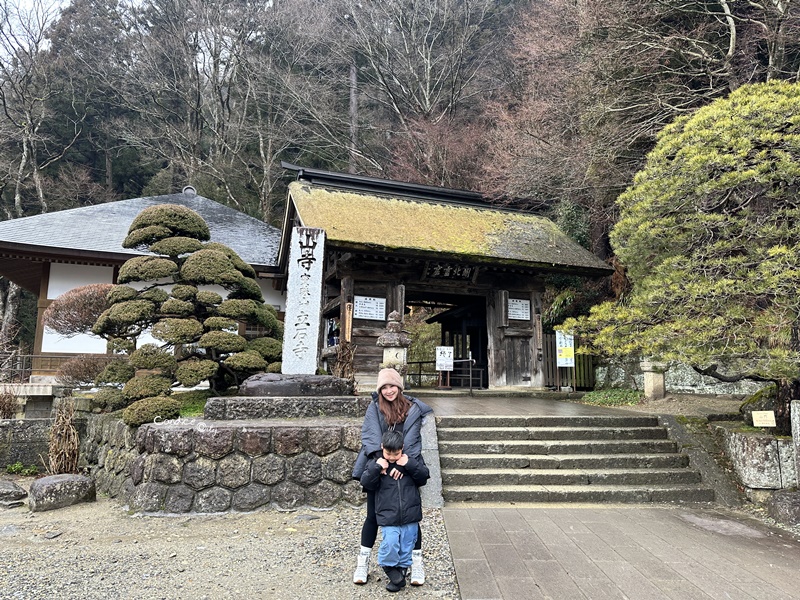
[[[658,417],[438,417],[446,502],[711,502]]]

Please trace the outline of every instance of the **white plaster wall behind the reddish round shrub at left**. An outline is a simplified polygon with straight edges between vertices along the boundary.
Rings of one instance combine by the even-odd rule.
[[[47,299],[55,300],[76,287],[92,283],[113,283],[112,267],[52,263],[47,282]],[[42,352],[55,354],[105,354],[106,342],[99,337],[80,334],[65,338],[49,328],[42,332]]]

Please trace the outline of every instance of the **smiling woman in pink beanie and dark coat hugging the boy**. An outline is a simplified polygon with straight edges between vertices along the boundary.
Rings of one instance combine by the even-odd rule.
[[[389,430],[403,432],[403,452],[422,460],[422,418],[433,409],[417,398],[403,395],[403,378],[394,369],[381,369],[378,385],[372,393],[372,402],[364,415],[361,426],[361,452],[353,467],[353,479],[361,479],[367,462],[378,458],[381,452],[381,437]],[[399,479],[403,475],[392,470],[389,475]],[[353,583],[367,582],[369,560],[375,538],[378,536],[378,521],[375,519],[375,492],[367,490],[367,518],[361,528],[361,550],[353,574]],[[425,566],[422,562],[422,531],[418,532],[411,560],[411,585],[425,583]]]

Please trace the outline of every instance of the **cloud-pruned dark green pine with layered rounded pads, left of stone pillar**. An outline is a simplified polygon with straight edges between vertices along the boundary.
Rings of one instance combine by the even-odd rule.
[[[92,330],[112,349],[128,352],[134,368],[149,371],[125,383],[128,402],[167,396],[176,381],[208,380],[222,392],[270,363],[279,368],[283,327],[264,304],[255,272],[233,250],[208,240],[202,217],[180,205],[147,208],[131,224],[123,245],[152,254],[120,268],[109,308]],[[240,324],[266,335],[248,340]],[[161,345],[137,349],[145,330]]]

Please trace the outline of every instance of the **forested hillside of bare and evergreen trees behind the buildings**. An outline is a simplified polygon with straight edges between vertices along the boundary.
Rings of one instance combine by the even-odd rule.
[[[191,184],[277,223],[286,160],[481,191],[611,259],[661,128],[798,73],[792,0],[0,0],[1,218]]]

